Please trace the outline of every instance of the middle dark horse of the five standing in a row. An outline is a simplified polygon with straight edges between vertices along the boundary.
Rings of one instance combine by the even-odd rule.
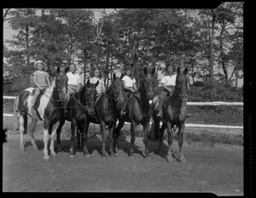
[[[90,122],[100,124],[102,133],[102,158],[107,158],[106,155],[106,140],[109,137],[109,152],[110,156],[114,157],[113,153],[113,130],[116,127],[116,122],[118,119],[118,114],[120,113],[117,109],[118,104],[122,104],[125,101],[124,96],[124,82],[121,80],[123,74],[117,77],[113,74],[113,82],[107,88],[105,93],[99,96],[96,101],[95,115],[89,115],[86,117],[84,126],[84,148],[87,150],[87,131]],[[87,119],[88,118],[88,119]],[[88,150],[87,150],[88,152]],[[88,155],[90,153],[88,152]]]

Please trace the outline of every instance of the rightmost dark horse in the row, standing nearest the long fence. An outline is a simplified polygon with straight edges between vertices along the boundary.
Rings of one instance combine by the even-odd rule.
[[[176,134],[172,134],[172,129],[176,126],[177,131],[177,142],[179,146],[179,161],[185,162],[185,158],[183,156],[183,132],[185,128],[185,120],[186,120],[186,107],[187,100],[189,97],[189,80],[187,77],[188,69],[185,68],[182,72],[181,69],[177,68],[177,78],[176,85],[174,88],[174,92],[172,96],[167,96],[167,99],[163,105],[163,117],[162,117],[162,127],[160,128],[160,118],[158,118],[158,105],[159,99],[156,96],[152,102],[152,116],[153,116],[153,125],[152,129],[154,129],[154,138],[155,140],[159,140],[159,151],[163,152],[163,134],[167,128],[168,133],[168,144],[169,150],[166,156],[167,161],[172,162],[172,142],[175,138]]]

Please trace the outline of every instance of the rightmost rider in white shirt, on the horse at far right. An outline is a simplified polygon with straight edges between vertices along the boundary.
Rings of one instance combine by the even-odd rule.
[[[166,73],[160,81],[161,86],[163,88],[159,95],[159,99],[160,99],[159,107],[158,107],[159,112],[157,114],[157,116],[160,118],[163,116],[162,108],[163,108],[163,104],[166,99],[166,96],[169,94],[171,97],[174,92],[176,77],[177,77],[177,74],[175,73],[172,64],[169,64],[169,63],[166,64]],[[189,117],[191,115],[187,114],[186,116]]]

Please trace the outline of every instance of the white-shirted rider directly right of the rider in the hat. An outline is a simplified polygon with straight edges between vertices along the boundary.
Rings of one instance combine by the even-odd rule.
[[[67,72],[67,100],[64,102],[64,116],[67,117],[67,103],[74,93],[79,91],[79,74],[76,73],[76,65],[72,63],[69,65],[69,72]]]

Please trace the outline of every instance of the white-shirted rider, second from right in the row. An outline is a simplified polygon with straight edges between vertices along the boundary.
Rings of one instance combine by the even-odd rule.
[[[124,103],[124,108],[123,110],[121,110],[121,116],[125,116],[126,114],[126,106],[128,103],[128,98],[131,95],[131,93],[136,93],[137,92],[137,82],[134,78],[134,76],[132,75],[132,66],[133,64],[130,64],[126,67],[125,70],[125,76],[122,78],[124,84],[125,84],[125,103]]]

